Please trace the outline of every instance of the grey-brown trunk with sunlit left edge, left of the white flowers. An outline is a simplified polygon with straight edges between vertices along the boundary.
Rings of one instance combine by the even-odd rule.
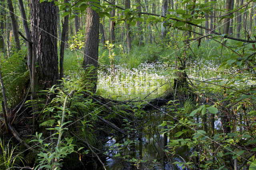
[[[91,4],[93,2],[89,2]],[[93,84],[92,92],[96,92],[97,88],[97,70],[98,70],[98,46],[99,46],[99,21],[100,17],[97,12],[88,7],[86,9],[86,32],[85,32],[85,48],[83,67],[86,71],[90,66],[94,66],[90,70],[90,81]]]

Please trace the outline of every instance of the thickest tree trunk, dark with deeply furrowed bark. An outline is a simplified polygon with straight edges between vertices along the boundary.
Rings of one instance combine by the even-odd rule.
[[[39,3],[39,0],[31,0],[31,2],[35,3],[31,6],[31,30],[36,41],[34,46],[35,59],[38,63],[36,76],[38,84],[46,89],[56,84],[58,80],[58,51],[55,38],[58,36],[57,9],[54,2]],[[34,25],[36,27],[33,29]]]

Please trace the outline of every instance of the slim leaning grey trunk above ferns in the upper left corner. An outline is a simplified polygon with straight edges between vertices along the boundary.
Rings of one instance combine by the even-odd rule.
[[[18,35],[18,25],[17,25],[17,21],[15,18],[15,14],[14,14],[14,9],[12,6],[12,0],[7,0],[7,6],[8,6],[10,18],[11,18],[12,33],[13,33],[13,38],[14,38],[14,42],[15,42],[15,47],[17,48],[17,50],[20,50],[20,39],[19,39],[19,35]]]

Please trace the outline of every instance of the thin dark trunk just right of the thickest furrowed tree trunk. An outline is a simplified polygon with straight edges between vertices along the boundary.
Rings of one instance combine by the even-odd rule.
[[[64,0],[64,3],[68,3],[68,0]],[[64,10],[64,12],[67,12],[67,10]],[[69,15],[64,16],[64,23],[62,25],[62,33],[61,33],[61,42],[60,42],[60,76],[59,78],[64,77],[64,49],[65,49],[65,37],[66,37],[66,31],[68,30],[68,17]]]

